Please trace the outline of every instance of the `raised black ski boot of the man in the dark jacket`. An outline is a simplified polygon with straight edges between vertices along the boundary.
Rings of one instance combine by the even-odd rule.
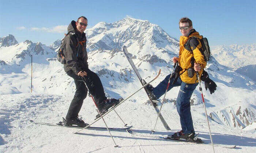
[[[123,98],[119,98],[119,99],[109,98],[109,99],[103,100],[103,102],[99,104],[99,107],[98,107],[99,112],[101,113],[101,115],[105,114],[110,107],[116,106],[122,100]],[[101,115],[97,114],[95,119],[99,118]]]

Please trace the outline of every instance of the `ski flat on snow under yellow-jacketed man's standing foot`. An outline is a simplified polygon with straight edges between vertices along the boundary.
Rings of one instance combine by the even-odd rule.
[[[137,136],[140,136],[140,137],[150,137],[150,138],[159,138],[159,139],[165,139],[166,141],[181,141],[181,142],[191,142],[191,143],[194,143],[194,144],[203,144],[203,145],[211,145],[211,143],[207,143],[207,142],[204,142],[202,141],[192,141],[192,140],[186,140],[186,139],[171,139],[171,138],[167,138],[167,137],[162,137],[162,136],[158,136],[158,135],[147,135],[147,134],[141,134],[141,133],[136,133],[135,131],[132,131],[132,130],[129,130],[127,129],[126,130],[129,134],[132,134],[132,135],[137,135]],[[199,139],[199,138],[197,138]],[[216,147],[222,147],[222,148],[235,148],[236,145],[221,145],[221,144],[213,144],[214,146]]]

